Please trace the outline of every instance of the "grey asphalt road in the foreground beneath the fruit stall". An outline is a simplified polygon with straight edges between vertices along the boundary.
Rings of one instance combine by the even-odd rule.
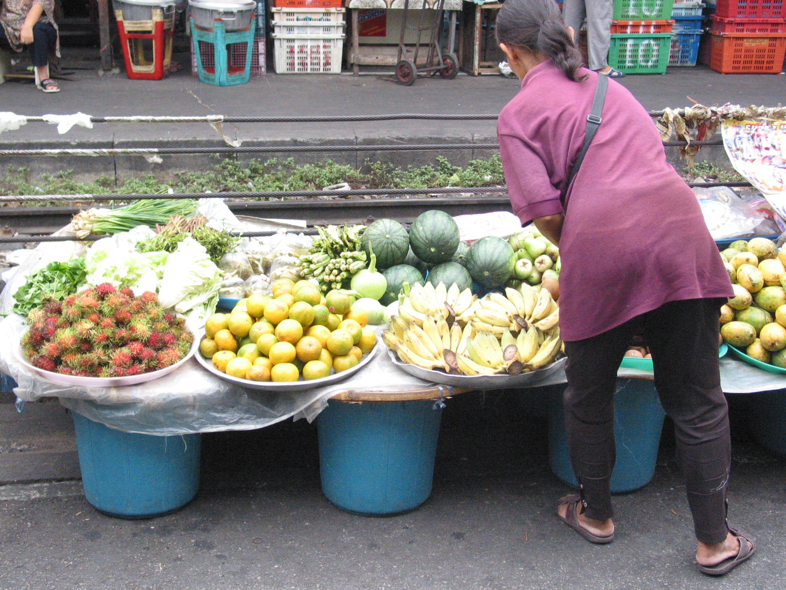
[[[617,540],[593,546],[553,515],[567,488],[548,469],[544,422],[516,394],[489,393],[449,400],[434,492],[409,514],[333,507],[314,425],[209,435],[201,491],[175,514],[120,520],[83,496],[0,502],[0,588],[780,590],[786,459],[751,441],[746,406],[733,400],[730,516],[760,547],[723,579],[693,564],[668,429],[652,483],[615,498]]]

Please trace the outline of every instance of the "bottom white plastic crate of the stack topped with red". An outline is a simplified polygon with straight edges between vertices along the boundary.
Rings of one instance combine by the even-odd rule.
[[[273,33],[277,74],[340,74],[346,35],[303,39]]]

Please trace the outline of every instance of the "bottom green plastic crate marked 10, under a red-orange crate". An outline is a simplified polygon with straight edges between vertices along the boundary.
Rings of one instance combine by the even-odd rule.
[[[608,65],[626,74],[665,74],[671,33],[612,33]]]

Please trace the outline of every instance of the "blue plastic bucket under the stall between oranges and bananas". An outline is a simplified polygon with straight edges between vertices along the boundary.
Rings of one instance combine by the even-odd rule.
[[[333,401],[319,415],[322,492],[342,510],[399,514],[432,492],[442,409],[433,401]]]

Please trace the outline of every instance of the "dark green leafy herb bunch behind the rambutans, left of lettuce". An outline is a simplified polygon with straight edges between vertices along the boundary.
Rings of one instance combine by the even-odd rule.
[[[13,298],[17,303],[13,306],[13,312],[28,315],[31,309],[40,307],[47,298],[62,301],[85,282],[86,274],[84,258],[50,262],[40,271],[28,276],[27,282],[14,294]]]

